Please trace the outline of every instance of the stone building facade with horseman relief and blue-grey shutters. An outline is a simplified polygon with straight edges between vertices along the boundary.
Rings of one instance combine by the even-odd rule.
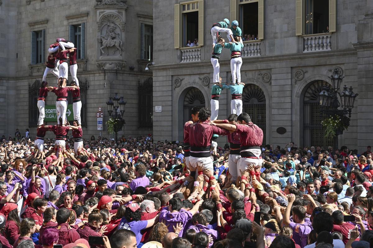
[[[0,134],[14,137],[18,128],[24,135],[28,128],[35,137],[35,95],[47,50],[57,37],[74,41],[79,49],[77,75],[83,95],[84,137],[94,135],[97,139],[100,135],[98,107],[103,110],[105,123],[109,119],[106,102],[115,93],[127,102],[123,116],[126,125],[119,135],[152,132],[152,74],[145,71],[151,54],[144,55],[150,51],[144,49],[144,37],[146,42],[152,39],[153,1],[1,0],[0,16]],[[54,75],[48,74],[47,81],[49,86],[56,86]],[[145,92],[147,101],[139,92]],[[49,93],[46,104],[54,103],[55,96]],[[103,134],[113,138],[105,126]]]

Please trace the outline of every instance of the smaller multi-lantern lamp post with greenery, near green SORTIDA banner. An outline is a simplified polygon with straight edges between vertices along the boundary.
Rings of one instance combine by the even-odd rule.
[[[109,101],[106,102],[107,113],[110,119],[114,121],[113,131],[115,132],[115,142],[118,142],[118,132],[122,130],[123,124],[126,124],[122,116],[126,112],[126,103],[123,97],[118,97],[118,93],[115,93],[114,97],[109,97]]]

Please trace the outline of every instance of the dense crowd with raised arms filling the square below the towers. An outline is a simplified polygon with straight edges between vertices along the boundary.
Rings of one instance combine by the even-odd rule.
[[[266,145],[233,180],[228,145],[212,171],[185,167],[178,141],[99,138],[58,157],[53,139],[3,142],[3,247],[372,247],[370,147]]]

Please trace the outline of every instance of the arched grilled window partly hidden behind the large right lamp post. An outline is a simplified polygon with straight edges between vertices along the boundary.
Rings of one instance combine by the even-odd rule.
[[[320,112],[319,93],[324,86],[330,86],[323,80],[314,81],[304,93],[303,97],[303,144],[304,146],[333,145],[332,138],[325,138],[321,125],[323,115]]]

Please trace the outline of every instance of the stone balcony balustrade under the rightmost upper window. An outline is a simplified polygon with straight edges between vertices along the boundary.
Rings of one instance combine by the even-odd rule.
[[[330,33],[303,36],[303,52],[330,51],[332,49],[331,36]]]

